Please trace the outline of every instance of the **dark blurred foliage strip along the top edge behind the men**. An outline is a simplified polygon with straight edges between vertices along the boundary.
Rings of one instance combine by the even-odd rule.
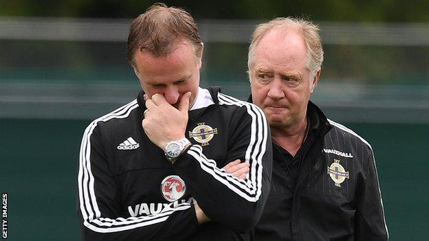
[[[0,16],[133,18],[156,1],[144,0],[0,0]],[[195,19],[272,19],[309,16],[314,21],[428,22],[427,0],[284,1],[170,0]]]

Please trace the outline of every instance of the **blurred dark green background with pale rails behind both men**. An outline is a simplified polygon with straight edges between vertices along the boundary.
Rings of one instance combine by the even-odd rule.
[[[0,191],[10,240],[80,240],[83,130],[135,98],[129,24],[154,1],[0,0]],[[314,102],[375,150],[391,240],[429,234],[429,1],[165,1],[204,41],[201,86],[247,100],[256,24],[307,16],[325,62]]]

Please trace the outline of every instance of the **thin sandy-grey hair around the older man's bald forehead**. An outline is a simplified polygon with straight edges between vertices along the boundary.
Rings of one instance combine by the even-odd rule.
[[[249,46],[249,70],[253,65],[255,49],[259,45],[259,41],[274,28],[281,28],[283,30],[294,29],[302,34],[307,49],[307,69],[309,69],[310,77],[314,78],[317,71],[322,67],[323,62],[323,49],[322,42],[320,41],[319,27],[311,23],[311,21],[292,17],[276,18],[268,23],[262,23],[256,26]]]

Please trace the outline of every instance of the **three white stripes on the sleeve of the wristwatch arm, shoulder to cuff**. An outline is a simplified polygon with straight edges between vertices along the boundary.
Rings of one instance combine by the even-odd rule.
[[[212,159],[207,159],[202,152],[201,146],[192,146],[188,154],[192,155],[200,164],[201,169],[212,175],[230,190],[239,194],[242,198],[250,202],[256,202],[261,196],[262,173],[263,173],[263,155],[267,145],[267,122],[265,115],[260,108],[254,104],[237,100],[228,95],[219,93],[219,104],[245,106],[248,114],[252,117],[250,144],[245,152],[245,160],[250,163],[249,179],[243,181],[228,174],[223,169],[219,169]]]

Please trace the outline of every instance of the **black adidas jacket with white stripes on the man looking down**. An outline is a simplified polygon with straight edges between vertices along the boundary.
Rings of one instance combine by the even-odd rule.
[[[78,168],[84,240],[245,240],[270,190],[270,129],[258,107],[209,91],[214,103],[189,111],[192,146],[173,165],[142,129],[142,92],[89,124]],[[250,162],[248,179],[222,169],[235,159]],[[195,200],[212,221],[198,224]]]

